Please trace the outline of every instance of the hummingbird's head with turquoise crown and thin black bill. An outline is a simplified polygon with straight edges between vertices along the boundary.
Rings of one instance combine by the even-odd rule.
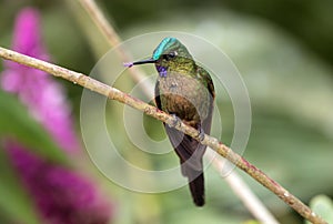
[[[164,38],[153,51],[152,58],[125,65],[144,63],[154,63],[161,77],[165,77],[168,70],[190,69],[195,64],[188,49],[175,38]]]

